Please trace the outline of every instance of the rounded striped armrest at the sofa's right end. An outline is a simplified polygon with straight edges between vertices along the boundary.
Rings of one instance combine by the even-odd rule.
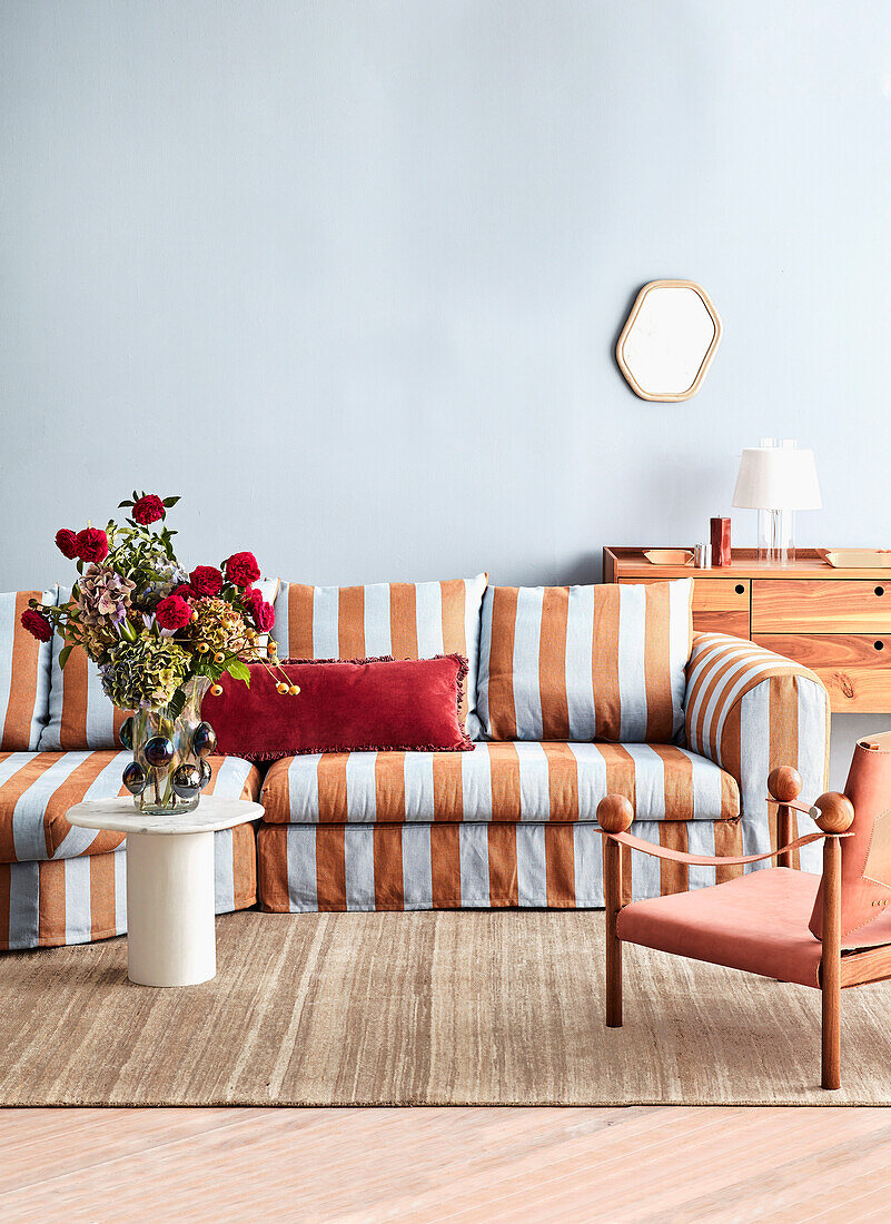
[[[739,783],[750,852],[766,849],[759,834],[776,824],[765,793],[771,770],[793,765],[811,803],[826,789],[829,693],[819,676],[791,659],[728,634],[696,634],[687,663],[684,726],[688,748]],[[747,826],[755,832],[747,836]]]

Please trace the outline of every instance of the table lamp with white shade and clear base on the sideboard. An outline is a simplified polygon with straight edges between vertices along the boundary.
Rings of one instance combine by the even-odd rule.
[[[733,504],[759,510],[758,559],[786,565],[796,559],[796,510],[819,510],[820,486],[813,450],[747,447],[739,460]]]

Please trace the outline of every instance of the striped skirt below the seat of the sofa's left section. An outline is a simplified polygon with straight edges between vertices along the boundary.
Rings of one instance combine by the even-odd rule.
[[[214,834],[218,914],[257,902],[253,825]],[[0,951],[89,944],[127,930],[126,849],[81,858],[0,863]]]

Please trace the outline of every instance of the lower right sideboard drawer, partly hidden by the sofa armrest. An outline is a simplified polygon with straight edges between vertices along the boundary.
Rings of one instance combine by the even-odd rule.
[[[816,672],[835,714],[891,711],[891,634],[758,633],[753,639]]]

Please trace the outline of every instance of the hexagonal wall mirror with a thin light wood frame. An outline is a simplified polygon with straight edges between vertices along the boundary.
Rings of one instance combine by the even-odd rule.
[[[622,328],[616,360],[641,399],[689,399],[721,339],[721,319],[693,280],[651,280]]]

